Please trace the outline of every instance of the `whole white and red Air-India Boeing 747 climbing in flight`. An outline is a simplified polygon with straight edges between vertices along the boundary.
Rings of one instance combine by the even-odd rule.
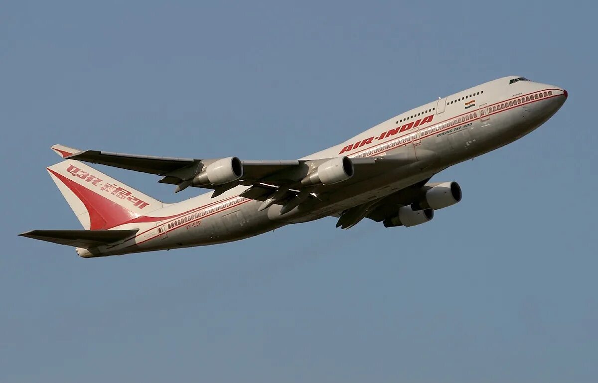
[[[462,198],[457,182],[429,182],[432,176],[520,139],[567,97],[563,88],[507,76],[438,97],[298,160],[153,157],[54,145],[63,161],[47,171],[84,230],[19,235],[95,258],[237,241],[328,216],[341,229],[364,218],[386,228],[420,225]],[[175,193],[211,191],[163,203],[84,162],[157,174],[158,182],[176,185]]]

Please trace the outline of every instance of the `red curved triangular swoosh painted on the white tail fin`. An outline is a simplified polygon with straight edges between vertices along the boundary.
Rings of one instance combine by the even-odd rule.
[[[138,217],[136,213],[126,209],[126,207],[108,200],[108,198],[62,176],[62,174],[56,173],[56,171],[53,171],[50,168],[48,168],[48,170],[68,186],[68,188],[77,195],[77,198],[83,202],[84,206],[87,208],[87,212],[89,212],[89,228],[91,230],[114,228],[114,226]]]

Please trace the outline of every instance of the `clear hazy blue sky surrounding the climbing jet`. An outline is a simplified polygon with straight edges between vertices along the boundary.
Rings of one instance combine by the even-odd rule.
[[[590,2],[4,2],[0,382],[595,382]],[[505,75],[569,91],[413,228],[80,259],[49,146],[292,160]],[[105,173],[164,201],[158,177]]]

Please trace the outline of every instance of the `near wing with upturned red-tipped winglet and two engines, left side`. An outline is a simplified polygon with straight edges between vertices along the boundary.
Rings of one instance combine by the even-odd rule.
[[[407,164],[421,162],[429,164],[437,159],[434,152],[419,150],[417,158],[413,149],[392,155],[364,158],[314,158],[291,161],[241,161],[236,157],[198,159],[153,157],[104,151],[80,151],[63,145],[52,146],[53,151],[63,158],[88,163],[141,171],[162,176],[158,182],[177,185],[175,192],[189,186],[213,189],[212,197],[238,185],[250,186],[242,196],[265,201],[263,209],[273,203],[283,204],[294,197],[306,199],[318,194],[332,192],[344,185],[360,182],[386,171]],[[328,179],[324,182],[321,168],[327,168]],[[350,177],[343,176],[345,167],[350,168]],[[330,175],[334,172],[333,175]],[[321,171],[320,173],[324,173]],[[303,192],[303,194],[302,194]]]

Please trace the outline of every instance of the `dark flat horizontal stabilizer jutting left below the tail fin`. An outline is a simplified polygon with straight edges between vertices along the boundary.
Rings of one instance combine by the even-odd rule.
[[[21,237],[83,247],[102,246],[132,237],[139,229],[130,230],[32,230],[19,234]]]

